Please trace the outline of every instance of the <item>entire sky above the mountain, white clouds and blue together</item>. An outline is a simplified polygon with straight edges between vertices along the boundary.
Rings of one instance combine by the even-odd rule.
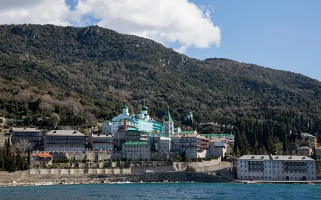
[[[0,24],[98,25],[187,56],[228,58],[321,80],[321,1],[0,0]]]

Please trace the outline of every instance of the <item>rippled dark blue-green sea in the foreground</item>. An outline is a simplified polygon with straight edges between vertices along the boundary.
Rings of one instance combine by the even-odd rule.
[[[103,183],[0,187],[0,199],[319,199],[317,184]]]

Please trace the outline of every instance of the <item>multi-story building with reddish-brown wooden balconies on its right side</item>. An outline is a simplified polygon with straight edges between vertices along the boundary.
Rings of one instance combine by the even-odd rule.
[[[180,138],[181,152],[189,158],[206,157],[210,147],[210,139],[200,135],[190,134]]]

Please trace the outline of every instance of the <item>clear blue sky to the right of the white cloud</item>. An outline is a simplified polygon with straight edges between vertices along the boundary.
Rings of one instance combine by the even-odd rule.
[[[221,29],[220,48],[191,48],[185,54],[301,73],[321,80],[321,1],[191,1],[211,4]]]

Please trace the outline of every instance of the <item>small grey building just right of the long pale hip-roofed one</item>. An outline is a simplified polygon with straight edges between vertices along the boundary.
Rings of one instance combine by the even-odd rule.
[[[116,140],[111,134],[91,134],[91,145],[95,150],[114,150]]]

